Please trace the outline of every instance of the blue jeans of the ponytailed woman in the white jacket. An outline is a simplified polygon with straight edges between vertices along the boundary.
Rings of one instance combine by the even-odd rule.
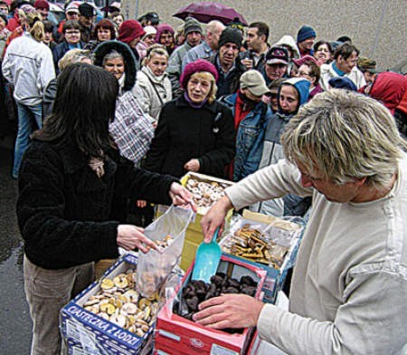
[[[14,164],[13,164],[13,177],[18,177],[20,170],[21,160],[27,149],[30,135],[34,130],[43,127],[43,104],[38,103],[34,106],[27,106],[23,103],[16,102],[18,113],[18,132],[15,139],[14,147]]]

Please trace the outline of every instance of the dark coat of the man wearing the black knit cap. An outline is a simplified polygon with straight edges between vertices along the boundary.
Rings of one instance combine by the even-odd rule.
[[[219,53],[204,58],[208,62],[212,62],[218,72],[218,80],[216,81],[216,86],[218,91],[216,91],[216,98],[220,98],[224,95],[231,95],[238,91],[240,86],[241,74],[247,71],[246,66],[241,63],[241,59],[238,56],[234,61],[234,68],[231,72],[228,72],[226,75],[223,73],[221,64],[219,62]]]

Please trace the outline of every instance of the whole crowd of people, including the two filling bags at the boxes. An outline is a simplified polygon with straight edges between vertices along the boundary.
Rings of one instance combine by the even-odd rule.
[[[407,77],[308,24],[272,43],[260,21],[187,17],[175,29],[114,4],[99,18],[66,2],[55,24],[46,0],[0,0],[1,124],[16,130],[33,354],[60,351],[58,310],[90,283],[94,261],[151,246],[128,213],[191,204],[176,183],[189,171],[238,183],[205,216],[207,240],[230,207],[309,221],[289,312],[222,296],[196,321],[258,325],[289,353],[398,353]]]

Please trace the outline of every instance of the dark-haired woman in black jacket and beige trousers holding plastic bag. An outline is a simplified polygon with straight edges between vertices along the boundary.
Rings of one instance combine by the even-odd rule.
[[[52,115],[25,151],[17,217],[33,353],[60,353],[59,311],[93,281],[94,261],[118,257],[118,246],[155,248],[142,228],[122,224],[128,197],[190,200],[174,177],[134,168],[119,156],[109,136],[117,95],[111,73],[71,64],[58,78]]]

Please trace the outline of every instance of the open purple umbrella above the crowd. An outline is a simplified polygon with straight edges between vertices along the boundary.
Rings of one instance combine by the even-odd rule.
[[[244,17],[232,7],[209,1],[192,3],[181,7],[173,16],[182,20],[192,16],[203,24],[207,24],[212,20],[221,21],[222,24],[229,24],[237,17],[242,24],[248,25]]]

